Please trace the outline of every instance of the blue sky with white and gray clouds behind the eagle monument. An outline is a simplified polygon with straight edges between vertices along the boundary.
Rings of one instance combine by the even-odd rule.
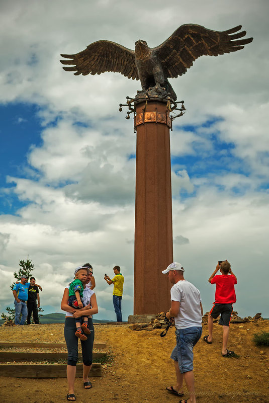
[[[203,56],[171,80],[187,109],[170,133],[174,260],[209,310],[207,280],[217,260],[228,259],[238,277],[234,308],[268,317],[268,2],[137,6],[2,4],[0,312],[13,304],[9,284],[29,255],[45,313],[60,312],[64,286],[85,262],[94,266],[98,318],[115,318],[103,276],[116,264],[125,276],[123,316],[132,313],[136,136],[118,108],[140,83],[118,73],[74,76],[60,53],[99,39],[154,47],[195,23],[220,31],[242,24],[254,40],[236,53]]]

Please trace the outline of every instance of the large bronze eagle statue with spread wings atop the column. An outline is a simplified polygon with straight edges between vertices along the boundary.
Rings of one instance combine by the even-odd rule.
[[[60,61],[62,64],[72,64],[63,69],[75,71],[75,75],[117,71],[128,78],[140,79],[144,91],[154,86],[164,87],[175,101],[176,95],[167,78],[185,74],[202,55],[218,56],[243,49],[253,38],[238,40],[246,35],[246,31],[238,32],[241,28],[238,25],[219,32],[201,25],[184,24],[155,48],[148,47],[143,40],[135,43],[135,50],[101,40],[88,45],[79,53],[61,54],[71,60]]]

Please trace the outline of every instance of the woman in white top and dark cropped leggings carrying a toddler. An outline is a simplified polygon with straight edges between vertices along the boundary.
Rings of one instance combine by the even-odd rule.
[[[80,269],[83,269],[84,266],[80,266]],[[75,373],[76,373],[76,362],[78,358],[78,349],[77,343],[78,338],[75,336],[75,318],[83,315],[88,316],[88,328],[91,330],[91,334],[87,336],[87,340],[81,342],[81,350],[82,350],[82,360],[83,360],[83,385],[84,389],[91,389],[92,383],[88,380],[88,373],[92,368],[93,363],[93,347],[94,347],[94,338],[95,331],[93,325],[92,315],[98,313],[98,305],[96,300],[96,295],[93,290],[90,288],[86,288],[85,285],[91,279],[89,274],[89,268],[84,268],[87,272],[87,277],[85,279],[84,290],[83,290],[83,303],[84,308],[81,309],[73,309],[68,305],[68,294],[69,294],[69,286],[65,287],[61,309],[66,311],[65,315],[65,324],[64,324],[64,338],[68,351],[68,360],[67,360],[67,382],[68,382],[68,394],[66,396],[67,400],[74,401],[74,381],[75,381]]]

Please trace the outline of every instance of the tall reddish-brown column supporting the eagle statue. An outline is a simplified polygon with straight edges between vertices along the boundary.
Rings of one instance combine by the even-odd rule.
[[[166,102],[136,106],[136,195],[134,314],[154,314],[170,306],[170,287],[161,273],[173,261],[171,126]]]

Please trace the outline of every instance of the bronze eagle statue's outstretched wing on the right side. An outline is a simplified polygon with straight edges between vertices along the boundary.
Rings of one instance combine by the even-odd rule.
[[[241,25],[227,31],[212,31],[201,25],[184,24],[161,45],[152,49],[158,55],[164,75],[175,78],[185,74],[193,62],[202,55],[218,56],[243,49],[253,38],[242,38],[246,31],[238,32]]]

